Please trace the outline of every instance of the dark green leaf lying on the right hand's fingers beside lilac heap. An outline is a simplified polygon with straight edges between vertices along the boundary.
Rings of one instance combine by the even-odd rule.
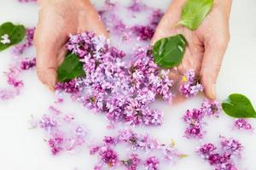
[[[181,34],[162,38],[153,47],[154,63],[162,68],[172,68],[181,63],[187,41]]]

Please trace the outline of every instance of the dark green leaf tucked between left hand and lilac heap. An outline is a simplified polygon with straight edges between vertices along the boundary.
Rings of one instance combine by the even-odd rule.
[[[76,54],[68,54],[57,70],[58,81],[67,82],[76,77],[84,77],[83,63]]]

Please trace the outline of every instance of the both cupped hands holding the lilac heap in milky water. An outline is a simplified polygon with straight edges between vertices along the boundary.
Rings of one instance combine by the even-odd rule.
[[[162,37],[177,33],[186,37],[189,46],[177,72],[183,74],[195,69],[205,87],[209,99],[216,98],[215,84],[222,59],[227,48],[230,32],[231,0],[215,0],[212,11],[196,31],[178,26],[183,4],[186,0],[173,0],[157,27],[152,43]],[[94,31],[108,37],[96,9],[90,0],[41,0],[39,21],[35,33],[37,49],[37,72],[41,82],[54,90],[56,68],[66,54],[68,34]]]

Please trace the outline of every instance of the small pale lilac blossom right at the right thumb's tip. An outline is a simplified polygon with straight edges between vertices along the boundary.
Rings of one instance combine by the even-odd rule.
[[[221,106],[217,100],[205,99],[201,104],[201,111],[207,116],[218,116],[221,111]]]

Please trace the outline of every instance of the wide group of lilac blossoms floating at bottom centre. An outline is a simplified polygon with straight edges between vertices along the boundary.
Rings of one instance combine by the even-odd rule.
[[[119,158],[119,154],[114,150],[114,147],[118,144],[125,144],[131,148],[131,153],[127,154],[128,158]],[[139,151],[146,152],[146,155],[139,154]],[[153,156],[153,153],[160,156],[160,158]],[[139,166],[143,166],[146,170],[158,170],[162,160],[175,162],[183,157],[175,149],[174,144],[159,144],[156,139],[151,138],[148,134],[139,135],[131,129],[119,131],[117,136],[106,136],[102,144],[90,146],[90,155],[95,154],[99,157],[95,166],[96,170],[104,169],[106,166],[125,166],[128,170],[136,170]],[[148,155],[150,156],[148,157]]]

